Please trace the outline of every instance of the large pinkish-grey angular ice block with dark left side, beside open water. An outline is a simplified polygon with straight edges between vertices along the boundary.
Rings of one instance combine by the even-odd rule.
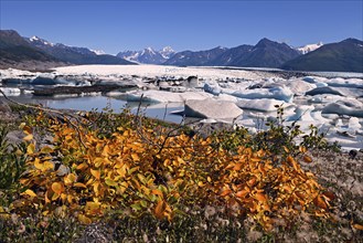
[[[186,101],[184,114],[189,117],[233,119],[241,116],[243,110],[234,103],[207,98]]]

